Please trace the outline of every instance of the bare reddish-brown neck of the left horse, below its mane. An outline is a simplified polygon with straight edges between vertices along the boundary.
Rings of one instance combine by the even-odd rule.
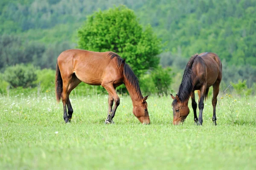
[[[124,84],[131,96],[131,101],[132,101],[133,106],[138,106],[140,101],[143,99],[141,92],[137,92],[136,89],[127,80],[127,78],[125,78],[125,76],[124,76]]]

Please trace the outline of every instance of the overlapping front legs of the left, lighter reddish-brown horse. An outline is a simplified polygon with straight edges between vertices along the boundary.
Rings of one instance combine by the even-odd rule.
[[[118,97],[118,95],[116,94],[116,88],[113,86],[113,84],[102,84],[102,86],[108,91],[108,117],[107,119],[105,120],[105,123],[108,124],[108,123],[114,123],[113,122],[113,118],[115,116],[115,113],[116,113],[116,109],[117,107],[119,106],[119,103],[120,103],[120,99]],[[112,98],[111,98],[111,97]],[[115,105],[112,109],[112,106],[113,106],[113,101],[115,101]]]

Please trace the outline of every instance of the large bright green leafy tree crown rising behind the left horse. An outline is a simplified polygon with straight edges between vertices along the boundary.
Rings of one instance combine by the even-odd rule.
[[[119,54],[140,77],[159,63],[161,41],[151,26],[143,27],[131,9],[125,6],[95,12],[78,31],[80,49],[113,51]]]

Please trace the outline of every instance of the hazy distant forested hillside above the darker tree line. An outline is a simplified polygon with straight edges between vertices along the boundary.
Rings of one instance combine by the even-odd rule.
[[[124,4],[134,10],[140,23],[151,24],[172,55],[189,58],[196,52],[211,51],[230,65],[256,65],[256,0],[170,2],[1,0],[0,35],[14,35],[26,41],[21,43],[22,48],[31,42],[45,45],[43,51],[52,44],[62,46],[58,44],[63,42],[69,44],[65,47],[73,48],[76,46],[76,29],[88,14]],[[4,44],[0,46],[3,48]]]

